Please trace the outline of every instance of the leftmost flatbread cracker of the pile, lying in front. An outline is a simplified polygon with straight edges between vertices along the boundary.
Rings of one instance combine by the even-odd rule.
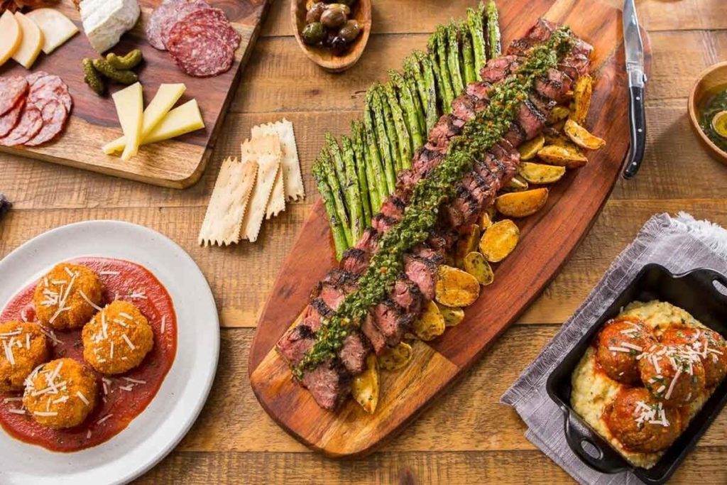
[[[240,163],[228,157],[222,162],[199,231],[201,246],[222,246],[240,241],[240,228],[256,174],[256,161]]]

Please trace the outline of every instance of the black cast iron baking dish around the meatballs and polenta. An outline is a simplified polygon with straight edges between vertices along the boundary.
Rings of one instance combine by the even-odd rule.
[[[611,307],[590,328],[547,380],[547,393],[565,415],[566,440],[580,459],[602,473],[631,470],[647,484],[664,484],[686,455],[694,449],[704,431],[710,427],[727,403],[727,379],[723,380],[704,403],[677,441],[667,449],[654,467],[646,470],[630,465],[608,441],[601,438],[571,409],[571,374],[601,326],[619,314],[632,301],[661,300],[677,305],[694,318],[727,338],[727,295],[715,286],[727,288],[727,278],[715,270],[697,269],[674,275],[660,265],[646,265]]]

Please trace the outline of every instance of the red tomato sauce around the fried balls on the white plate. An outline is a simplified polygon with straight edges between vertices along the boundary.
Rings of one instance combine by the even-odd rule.
[[[105,286],[105,303],[121,299],[136,305],[153,329],[154,347],[140,366],[126,374],[102,376],[97,373],[100,393],[97,407],[76,428],[45,428],[28,414],[9,412],[9,409],[20,409],[22,403],[13,398],[22,393],[0,395],[2,428],[20,441],[54,452],[76,452],[97,446],[124,430],[156,396],[177,353],[177,316],[172,298],[149,270],[133,262],[102,257],[81,257],[69,262],[95,270]],[[35,286],[28,286],[16,294],[0,313],[0,321],[34,321]],[[52,359],[70,357],[84,363],[81,329],[56,331],[52,335],[55,338],[50,347]]]

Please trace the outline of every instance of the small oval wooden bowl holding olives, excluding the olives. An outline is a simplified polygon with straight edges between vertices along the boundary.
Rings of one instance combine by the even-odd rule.
[[[308,0],[293,0],[290,7],[290,16],[295,31],[295,39],[298,45],[308,56],[308,59],[332,73],[341,73],[352,67],[358,62],[361,54],[369,43],[369,34],[371,33],[371,0],[358,0],[354,7],[353,20],[358,21],[361,27],[361,33],[358,38],[353,41],[344,55],[334,55],[334,53],[324,47],[313,47],[303,42],[300,33],[305,27],[305,14],[308,10],[305,8]]]

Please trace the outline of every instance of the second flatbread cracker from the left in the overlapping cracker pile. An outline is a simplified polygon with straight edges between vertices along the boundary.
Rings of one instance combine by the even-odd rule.
[[[255,183],[249,210],[242,221],[241,237],[250,242],[257,241],[262,220],[268,207],[282,157],[280,140],[277,136],[265,135],[246,141],[242,147],[243,161],[257,161],[257,183]]]

